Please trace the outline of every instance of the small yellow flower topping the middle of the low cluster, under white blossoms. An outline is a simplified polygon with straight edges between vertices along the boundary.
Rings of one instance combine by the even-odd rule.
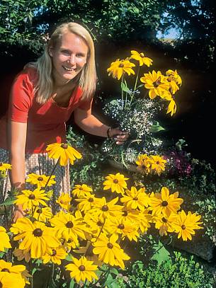
[[[118,194],[124,194],[125,190],[127,188],[127,183],[125,180],[128,180],[129,178],[125,178],[123,174],[116,173],[109,174],[105,177],[106,181],[103,182],[103,190],[111,189],[111,192],[117,192]]]

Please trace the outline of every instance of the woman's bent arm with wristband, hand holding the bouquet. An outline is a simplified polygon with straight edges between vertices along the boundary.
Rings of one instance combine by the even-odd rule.
[[[89,110],[82,110],[76,108],[74,110],[74,120],[76,124],[81,127],[84,131],[88,132],[89,134],[93,134],[96,136],[101,137],[116,137],[116,144],[122,144],[128,138],[128,133],[123,132],[118,128],[110,129],[108,132],[109,126],[103,124],[99,121],[96,117],[91,114],[91,109]]]

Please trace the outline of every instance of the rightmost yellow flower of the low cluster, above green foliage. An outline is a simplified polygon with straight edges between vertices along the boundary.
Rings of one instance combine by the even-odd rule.
[[[192,240],[191,235],[195,234],[194,230],[203,229],[199,226],[203,223],[199,222],[200,218],[200,215],[192,214],[191,211],[188,212],[188,215],[183,210],[179,212],[173,224],[175,232],[178,233],[178,238],[182,237],[183,241]]]

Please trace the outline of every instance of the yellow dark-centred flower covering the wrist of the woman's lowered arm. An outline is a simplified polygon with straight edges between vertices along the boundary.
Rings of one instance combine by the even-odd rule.
[[[21,194],[16,196],[15,204],[23,205],[23,210],[32,210],[33,207],[37,207],[40,204],[47,206],[46,200],[50,200],[45,193],[45,190],[40,190],[40,188],[31,190],[22,190]]]

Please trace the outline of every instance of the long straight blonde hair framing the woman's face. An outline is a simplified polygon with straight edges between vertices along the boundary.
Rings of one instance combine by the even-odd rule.
[[[45,46],[45,50],[36,62],[30,62],[25,67],[33,67],[38,71],[38,82],[35,85],[34,92],[37,92],[37,102],[45,103],[51,96],[53,91],[52,79],[52,58],[50,57],[50,47],[56,47],[62,39],[64,33],[71,32],[81,37],[89,47],[86,64],[79,74],[77,86],[82,90],[81,100],[89,100],[93,97],[96,89],[96,67],[94,57],[93,40],[89,32],[78,23],[69,22],[59,25],[54,33],[52,33],[49,42]]]

